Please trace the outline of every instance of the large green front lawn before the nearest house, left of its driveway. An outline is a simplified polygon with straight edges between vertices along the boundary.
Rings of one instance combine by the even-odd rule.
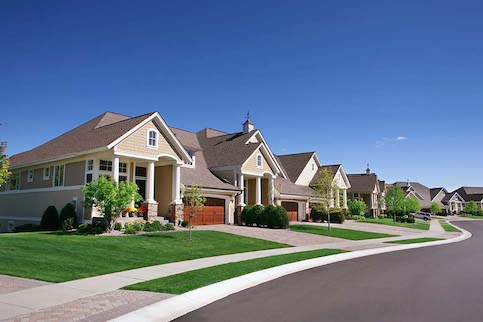
[[[0,274],[65,282],[202,257],[290,247],[214,231],[137,236],[67,233],[0,234]]]

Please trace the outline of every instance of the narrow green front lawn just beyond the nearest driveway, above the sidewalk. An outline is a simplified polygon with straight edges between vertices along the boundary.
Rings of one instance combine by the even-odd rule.
[[[334,227],[331,227],[330,231],[328,231],[327,227],[315,226],[315,225],[290,225],[290,229],[292,231],[297,231],[301,233],[309,233],[309,234],[323,235],[323,236],[350,239],[350,240],[395,237],[395,235],[371,233],[371,232],[360,231],[360,230],[342,229],[342,228],[334,228]]]

